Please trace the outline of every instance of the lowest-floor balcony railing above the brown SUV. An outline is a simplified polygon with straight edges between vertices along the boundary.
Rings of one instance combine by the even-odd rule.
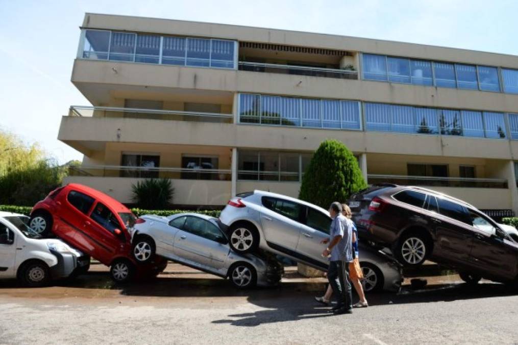
[[[508,188],[507,180],[503,178],[464,178],[373,174],[369,174],[367,177],[369,184],[394,183],[397,185],[434,187]]]

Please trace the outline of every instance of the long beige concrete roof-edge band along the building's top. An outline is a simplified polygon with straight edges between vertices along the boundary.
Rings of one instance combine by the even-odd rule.
[[[518,68],[518,57],[379,39],[306,33],[259,27],[200,23],[85,13],[83,27],[159,34],[229,38],[249,42],[274,43],[325,49],[382,53],[403,57],[478,63]]]

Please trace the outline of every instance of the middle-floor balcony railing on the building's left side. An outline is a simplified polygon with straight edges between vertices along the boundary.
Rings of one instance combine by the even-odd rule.
[[[234,115],[219,113],[178,112],[154,109],[115,108],[99,106],[70,106],[68,116],[134,118],[175,121],[202,121],[232,123]]]

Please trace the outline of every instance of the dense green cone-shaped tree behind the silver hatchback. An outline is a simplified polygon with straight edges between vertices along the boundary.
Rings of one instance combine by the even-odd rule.
[[[326,140],[315,151],[302,179],[299,199],[327,209],[367,187],[358,161],[343,143]]]

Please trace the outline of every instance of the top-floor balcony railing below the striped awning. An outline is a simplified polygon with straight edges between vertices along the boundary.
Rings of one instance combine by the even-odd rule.
[[[349,70],[334,70],[333,68],[278,65],[271,63],[239,62],[239,70],[252,72],[295,74],[311,77],[326,77],[338,79],[358,79],[358,72]]]

